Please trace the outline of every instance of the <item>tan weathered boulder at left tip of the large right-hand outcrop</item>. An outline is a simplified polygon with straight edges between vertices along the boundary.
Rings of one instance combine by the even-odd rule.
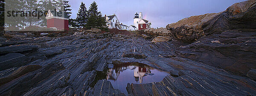
[[[203,25],[220,13],[204,14],[184,18],[166,26],[172,37],[184,42],[194,42],[204,36]]]

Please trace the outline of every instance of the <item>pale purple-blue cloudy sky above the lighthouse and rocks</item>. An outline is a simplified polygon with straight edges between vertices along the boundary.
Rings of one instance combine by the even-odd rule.
[[[143,19],[156,28],[190,16],[225,11],[234,3],[245,0],[70,0],[71,18],[76,18],[81,2],[89,9],[93,1],[102,16],[116,14],[121,23],[129,26],[133,25],[134,14],[142,12]]]

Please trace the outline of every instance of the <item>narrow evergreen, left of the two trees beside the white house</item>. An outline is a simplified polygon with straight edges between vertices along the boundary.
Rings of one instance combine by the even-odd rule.
[[[80,8],[79,8],[79,11],[77,13],[77,16],[76,16],[76,20],[77,20],[77,23],[79,25],[79,27],[82,27],[82,28],[85,28],[86,27],[86,23],[87,23],[87,9],[85,7],[85,4],[83,2],[81,2],[81,5],[80,5]]]

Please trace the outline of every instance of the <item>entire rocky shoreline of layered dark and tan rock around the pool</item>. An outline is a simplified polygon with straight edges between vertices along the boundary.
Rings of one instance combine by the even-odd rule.
[[[96,73],[108,64],[134,62],[170,75],[128,83],[129,96],[256,95],[255,17],[256,1],[248,0],[140,36],[1,32],[0,96],[125,96],[111,82],[95,81]]]

